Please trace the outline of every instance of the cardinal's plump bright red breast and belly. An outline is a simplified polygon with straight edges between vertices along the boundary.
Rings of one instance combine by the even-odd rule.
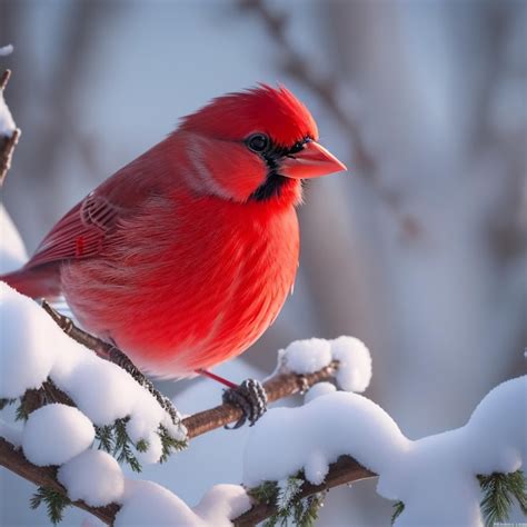
[[[298,253],[292,207],[175,200],[122,226],[105,261],[71,266],[64,290],[84,325],[139,367],[181,376],[239,355],[269,327]]]

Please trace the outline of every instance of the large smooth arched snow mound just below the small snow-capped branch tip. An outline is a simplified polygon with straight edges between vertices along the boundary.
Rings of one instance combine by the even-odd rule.
[[[307,478],[318,485],[326,477],[328,465],[345,454],[362,459],[366,467],[377,471],[409,444],[375,402],[336,391],[297,408],[269,410],[249,436],[243,483],[253,487],[305,469]]]

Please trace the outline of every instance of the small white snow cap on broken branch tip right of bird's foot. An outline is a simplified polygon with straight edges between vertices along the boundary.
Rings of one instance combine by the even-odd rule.
[[[314,374],[338,360],[336,379],[339,388],[346,391],[364,391],[371,380],[369,350],[355,337],[295,340],[279,351],[279,360],[285,369],[299,375]]]

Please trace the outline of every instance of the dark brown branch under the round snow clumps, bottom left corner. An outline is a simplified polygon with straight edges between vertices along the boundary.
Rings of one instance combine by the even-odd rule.
[[[0,437],[0,465],[38,485],[39,487],[50,488],[58,494],[67,496],[66,488],[57,481],[57,470],[52,467],[37,467],[29,463],[13,445]],[[119,505],[109,504],[106,507],[91,507],[84,501],[73,501],[72,505],[97,516],[105,524],[110,525],[119,510]]]

